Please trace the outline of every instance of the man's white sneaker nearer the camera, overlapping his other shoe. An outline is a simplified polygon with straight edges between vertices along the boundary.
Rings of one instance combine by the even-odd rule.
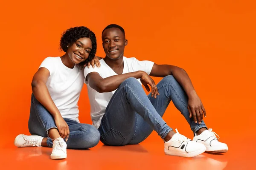
[[[164,141],[164,152],[166,155],[194,157],[204,153],[204,144],[194,142],[186,136],[181,135],[176,129],[176,134],[168,142]]]

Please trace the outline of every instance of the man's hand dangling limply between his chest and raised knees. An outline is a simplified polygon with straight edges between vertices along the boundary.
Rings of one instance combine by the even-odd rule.
[[[147,91],[150,91],[150,88],[148,87],[148,84],[151,86],[151,96],[154,98],[157,98],[157,95],[159,95],[157,86],[154,82],[154,80],[148,76],[146,72],[142,72],[142,75],[140,77],[141,83],[145,86]]]

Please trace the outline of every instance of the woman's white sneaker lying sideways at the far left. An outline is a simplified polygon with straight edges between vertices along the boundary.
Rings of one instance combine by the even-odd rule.
[[[14,144],[17,147],[33,147],[33,146],[41,146],[43,137],[38,135],[23,135],[20,134],[16,136],[14,140]]]

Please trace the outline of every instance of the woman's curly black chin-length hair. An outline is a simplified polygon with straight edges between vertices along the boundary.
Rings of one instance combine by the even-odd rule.
[[[69,28],[66,31],[63,31],[61,34],[61,40],[60,40],[60,48],[67,52],[67,48],[70,45],[73,45],[74,42],[76,42],[79,38],[90,38],[92,42],[92,50],[90,51],[89,57],[84,61],[79,63],[79,68],[82,69],[84,67],[84,64],[91,61],[97,50],[97,42],[96,42],[96,36],[93,33],[93,31],[90,31],[89,28],[85,26],[76,26],[73,28]]]

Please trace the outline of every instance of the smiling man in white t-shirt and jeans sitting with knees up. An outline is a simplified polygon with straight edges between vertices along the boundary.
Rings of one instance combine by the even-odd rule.
[[[189,76],[182,68],[124,57],[125,31],[111,24],[102,31],[106,54],[100,68],[85,68],[93,125],[107,145],[138,144],[155,130],[167,155],[193,157],[204,151],[227,152],[203,121],[206,111]],[[164,77],[157,85],[149,76]],[[146,96],[141,83],[151,93]],[[149,86],[148,86],[149,85]],[[175,133],[162,119],[170,101],[194,133],[191,141]]]

